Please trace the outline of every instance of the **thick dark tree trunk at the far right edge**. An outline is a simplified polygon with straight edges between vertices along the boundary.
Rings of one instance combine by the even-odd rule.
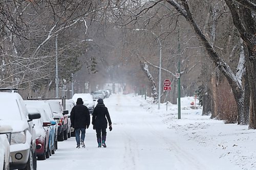
[[[256,5],[249,1],[225,0],[232,14],[234,26],[238,29],[243,39],[245,56],[246,56],[246,72],[247,81],[250,89],[250,109],[249,109],[249,129],[256,129]],[[251,7],[253,7],[251,10]]]

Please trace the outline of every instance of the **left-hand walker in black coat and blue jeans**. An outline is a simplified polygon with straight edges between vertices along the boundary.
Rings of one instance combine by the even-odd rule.
[[[85,148],[84,138],[86,137],[86,129],[90,126],[90,113],[86,106],[83,105],[81,98],[77,99],[76,106],[74,106],[70,113],[71,126],[76,133],[76,148]],[[80,138],[81,132],[81,138]]]

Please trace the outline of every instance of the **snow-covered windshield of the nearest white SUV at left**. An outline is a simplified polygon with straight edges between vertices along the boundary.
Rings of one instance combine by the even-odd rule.
[[[15,99],[0,99],[0,119],[2,120],[21,120],[22,115]]]

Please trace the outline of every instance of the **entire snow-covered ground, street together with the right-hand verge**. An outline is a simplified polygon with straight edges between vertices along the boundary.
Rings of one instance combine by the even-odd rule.
[[[190,109],[192,98],[177,105],[157,104],[132,94],[105,99],[113,123],[107,148],[97,148],[92,126],[86,149],[75,149],[75,138],[58,142],[49,159],[37,161],[38,170],[59,169],[256,169],[256,134],[247,126],[225,125]]]

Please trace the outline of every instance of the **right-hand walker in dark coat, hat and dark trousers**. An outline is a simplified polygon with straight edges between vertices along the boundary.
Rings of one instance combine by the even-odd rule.
[[[93,129],[96,130],[98,148],[101,148],[101,142],[102,146],[106,148],[106,128],[108,127],[109,122],[109,128],[110,131],[112,131],[112,123],[108,108],[105,107],[103,100],[98,99],[97,102],[98,104],[93,110],[92,124]],[[106,122],[106,119],[108,119],[108,122]]]

